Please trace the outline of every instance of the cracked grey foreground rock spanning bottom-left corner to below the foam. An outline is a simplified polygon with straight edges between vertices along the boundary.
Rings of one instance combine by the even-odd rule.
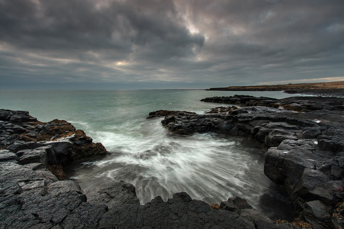
[[[184,192],[140,205],[135,187],[124,181],[101,185],[86,197],[75,182],[32,170],[36,164],[0,162],[1,228],[290,228],[273,224],[239,197],[233,209],[211,209]]]

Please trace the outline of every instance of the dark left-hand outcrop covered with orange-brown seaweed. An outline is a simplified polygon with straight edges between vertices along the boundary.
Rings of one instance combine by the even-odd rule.
[[[92,141],[64,120],[43,123],[27,111],[0,110],[0,149],[17,155],[19,164],[42,163],[56,171],[60,180],[64,175],[61,165],[107,153],[103,145]]]

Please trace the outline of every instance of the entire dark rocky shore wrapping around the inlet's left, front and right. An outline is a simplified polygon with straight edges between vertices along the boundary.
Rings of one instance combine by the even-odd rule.
[[[206,115],[157,111],[149,116],[165,116],[162,123],[172,134],[217,131],[265,144],[269,150],[264,172],[298,207],[301,216],[294,224],[274,223],[239,197],[209,206],[181,192],[167,202],[157,196],[140,205],[135,187],[124,181],[85,194],[74,181],[63,181],[62,166],[105,154],[106,149],[66,121],[42,123],[28,112],[2,109],[0,228],[344,226],[344,99],[231,96],[203,101],[246,107],[216,107]]]

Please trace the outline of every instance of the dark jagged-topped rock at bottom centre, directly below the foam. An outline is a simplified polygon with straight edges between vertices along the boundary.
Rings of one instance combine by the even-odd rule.
[[[229,208],[211,209],[185,192],[175,193],[167,202],[157,196],[145,205],[123,202],[117,206],[101,217],[98,228],[287,228],[273,224],[249,205],[239,213]]]

